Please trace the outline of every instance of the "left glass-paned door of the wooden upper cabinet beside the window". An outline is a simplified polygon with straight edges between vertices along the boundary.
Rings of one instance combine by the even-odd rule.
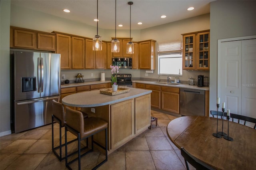
[[[183,36],[183,69],[195,69],[195,34]]]

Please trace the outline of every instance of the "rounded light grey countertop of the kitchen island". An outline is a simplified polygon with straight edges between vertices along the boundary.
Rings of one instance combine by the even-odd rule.
[[[62,99],[62,103],[72,107],[97,107],[119,103],[136,97],[144,96],[152,92],[152,90],[136,89],[132,87],[126,88],[130,89],[130,91],[114,96],[102,94],[100,93],[100,90],[74,93],[64,97]]]

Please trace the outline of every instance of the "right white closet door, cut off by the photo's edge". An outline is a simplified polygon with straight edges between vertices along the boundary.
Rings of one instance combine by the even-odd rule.
[[[242,115],[256,118],[256,39],[242,41]]]

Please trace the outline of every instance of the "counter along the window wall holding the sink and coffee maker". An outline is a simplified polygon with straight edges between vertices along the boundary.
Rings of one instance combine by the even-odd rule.
[[[196,85],[189,85],[189,84],[178,84],[178,85],[165,85],[165,84],[157,84],[156,81],[142,81],[142,80],[133,80],[132,83],[144,83],[150,85],[161,85],[167,87],[178,87],[178,88],[187,88],[187,89],[196,89],[196,90],[205,90],[209,91],[209,87],[198,87]],[[164,81],[161,81],[164,82]]]

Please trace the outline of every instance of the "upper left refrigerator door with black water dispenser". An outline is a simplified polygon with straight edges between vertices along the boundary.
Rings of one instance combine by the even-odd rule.
[[[27,100],[40,98],[38,92],[38,59],[39,52],[15,51],[11,55],[14,65],[11,69],[14,73],[14,100]],[[12,75],[13,76],[13,75]]]

